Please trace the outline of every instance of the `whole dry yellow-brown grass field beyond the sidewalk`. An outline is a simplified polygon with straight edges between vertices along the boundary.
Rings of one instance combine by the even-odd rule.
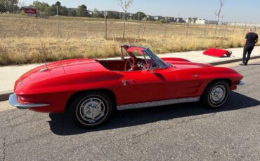
[[[103,19],[27,18],[0,15],[0,65],[28,64],[79,57],[115,57],[123,44],[145,45],[155,53],[204,50],[210,47],[242,47],[245,27],[228,25],[186,25],[128,21],[122,39],[123,22],[108,20],[105,39]],[[145,25],[146,24],[146,25]],[[188,34],[187,34],[188,31]]]

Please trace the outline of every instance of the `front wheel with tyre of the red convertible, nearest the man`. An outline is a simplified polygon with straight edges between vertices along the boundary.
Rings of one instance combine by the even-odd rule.
[[[204,90],[202,104],[210,109],[217,109],[226,103],[230,92],[230,85],[225,80],[216,80]]]

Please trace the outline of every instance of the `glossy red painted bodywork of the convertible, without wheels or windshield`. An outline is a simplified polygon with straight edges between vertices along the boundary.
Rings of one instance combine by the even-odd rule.
[[[186,59],[163,58],[173,64],[165,69],[124,71],[126,60],[68,59],[39,66],[15,82],[15,94],[22,103],[49,106],[33,111],[57,113],[74,94],[89,90],[109,90],[116,104],[134,104],[164,99],[198,97],[216,79],[230,81],[230,90],[242,79],[233,69],[190,62]],[[110,69],[110,70],[109,70]],[[124,80],[131,80],[124,85]]]

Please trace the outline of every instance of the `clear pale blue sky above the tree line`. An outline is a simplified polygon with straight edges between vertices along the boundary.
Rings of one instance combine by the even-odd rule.
[[[20,0],[29,6],[34,0]],[[48,4],[56,3],[55,0],[39,0]],[[118,0],[59,0],[62,6],[77,8],[85,4],[89,10],[117,10],[122,11]],[[223,6],[224,22],[245,22],[260,24],[259,0],[226,0]],[[216,20],[216,10],[219,0],[134,0],[129,8],[129,13],[142,11],[146,15],[162,15],[180,18],[202,18]]]

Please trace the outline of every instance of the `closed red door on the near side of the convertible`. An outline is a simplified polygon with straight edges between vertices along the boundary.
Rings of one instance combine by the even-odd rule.
[[[176,75],[169,69],[121,71],[119,76],[118,104],[134,104],[173,99],[176,92]]]

